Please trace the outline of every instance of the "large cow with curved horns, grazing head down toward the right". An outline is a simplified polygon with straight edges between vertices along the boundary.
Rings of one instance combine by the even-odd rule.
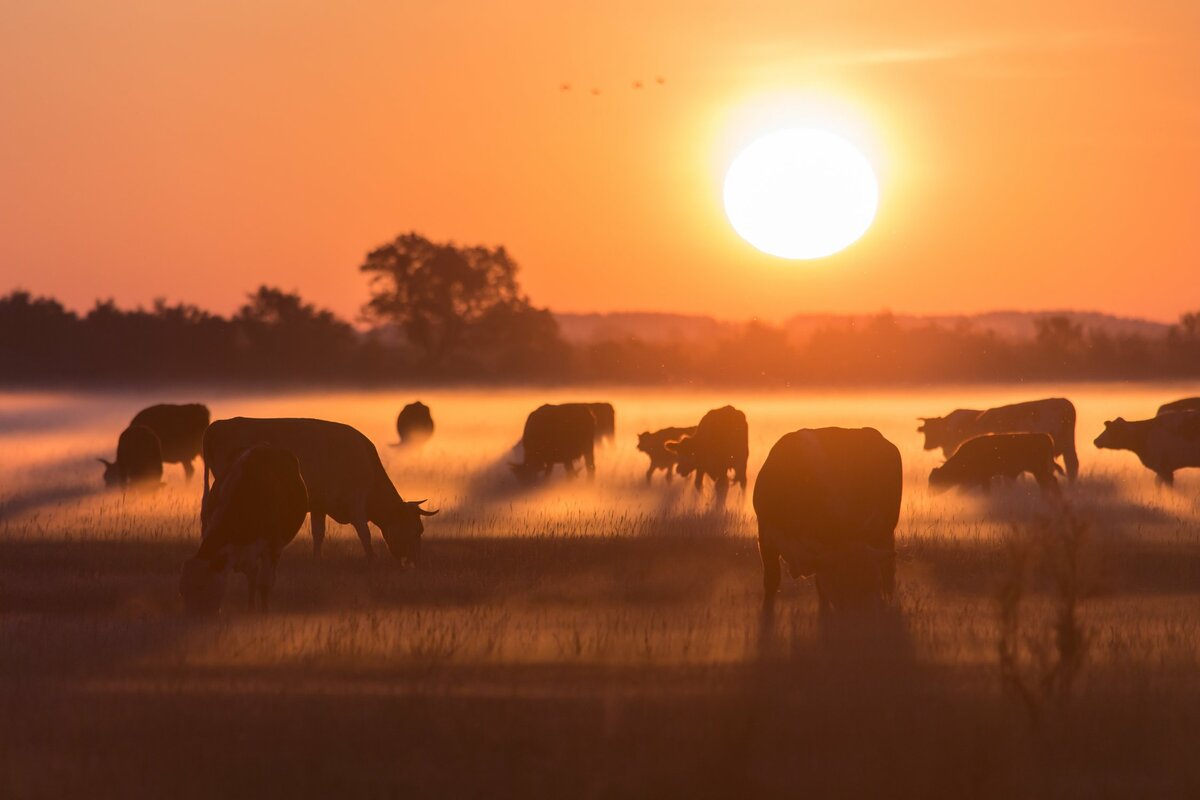
[[[367,560],[374,559],[371,528],[383,534],[388,551],[401,564],[420,557],[421,517],[437,511],[421,509],[425,500],[406,501],[396,492],[371,440],[348,425],[324,420],[217,420],[204,434],[204,501],[202,522],[209,509],[209,471],[220,479],[246,447],[270,444],[295,455],[308,487],[312,512],[312,551],[320,558],[325,541],[325,517],[354,525]]]

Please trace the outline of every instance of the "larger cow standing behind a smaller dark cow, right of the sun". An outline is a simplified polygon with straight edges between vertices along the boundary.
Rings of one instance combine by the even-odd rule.
[[[986,411],[960,408],[946,416],[920,417],[918,433],[925,434],[925,450],[942,449],[949,458],[967,439],[985,433],[1049,433],[1055,456],[1062,456],[1067,477],[1079,475],[1075,453],[1075,407],[1063,397],[1001,405]]]

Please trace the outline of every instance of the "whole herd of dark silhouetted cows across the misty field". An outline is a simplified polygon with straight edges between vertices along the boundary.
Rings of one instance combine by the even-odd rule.
[[[433,434],[422,403],[400,413],[401,444]],[[1049,398],[988,410],[958,409],[924,417],[925,450],[941,449],[946,462],[929,477],[936,489],[978,487],[1028,473],[1052,500],[1056,474],[1074,481],[1075,407]],[[510,463],[518,480],[532,481],[562,465],[576,475],[582,461],[595,474],[594,449],[616,435],[610,403],[541,405],[526,420]],[[1159,483],[1200,467],[1200,398],[1169,403],[1156,417],[1104,423],[1097,447],[1129,450]],[[724,501],[730,483],[746,487],[749,426],[726,405],[695,426],[638,434],[649,457],[647,482],[662,470],[713,483]],[[370,525],[383,534],[401,564],[420,558],[425,500],[404,500],[388,476],[376,446],[355,428],[311,419],[234,417],[210,422],[200,404],[154,405],[120,434],[116,461],[104,461],[108,486],[158,486],[164,463],[182,464],[191,477],[204,459],[200,546],[184,567],[180,594],[188,613],[220,612],[230,571],[246,576],[250,606],[265,610],[281,551],[310,516],[313,553],[320,557],[325,519],[353,525],[368,560]],[[1063,465],[1056,461],[1062,457]],[[103,461],[103,459],[102,459]],[[758,548],[763,564],[763,608],[769,612],[786,564],[793,577],[812,576],[822,613],[876,608],[893,591],[895,527],[900,516],[900,451],[875,428],[811,428],[784,435],[770,449],[754,488]]]

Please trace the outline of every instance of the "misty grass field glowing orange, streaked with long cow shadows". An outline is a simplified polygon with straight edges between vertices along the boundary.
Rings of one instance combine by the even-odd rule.
[[[1200,796],[1200,471],[1159,491],[1091,445],[1104,419],[1195,389],[2,396],[0,798]],[[1036,684],[1062,590],[1049,567],[1014,584],[1013,566],[1061,522],[1032,483],[929,493],[940,457],[914,432],[922,414],[1050,395],[1079,409],[1067,495],[1086,529],[1086,655],[1061,696]],[[418,396],[434,438],[389,446]],[[316,563],[306,525],[270,615],[230,582],[218,620],[182,619],[199,481],[168,467],[155,495],[122,497],[95,462],[160,399],[359,427],[406,499],[442,509],[421,569],[382,542],[368,569],[337,525]],[[522,489],[508,449],[564,399],[612,401],[617,443],[594,482]],[[810,583],[787,582],[763,625],[749,498],[714,510],[682,481],[644,483],[636,433],[725,403],[750,421],[751,487],[799,427],[869,425],[900,447],[883,619],[821,626]],[[1024,587],[1006,630],[1031,704],[997,655],[1006,585]]]

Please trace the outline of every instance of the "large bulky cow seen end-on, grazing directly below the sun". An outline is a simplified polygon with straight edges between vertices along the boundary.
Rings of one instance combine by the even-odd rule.
[[[875,428],[785,434],[754,487],[763,610],[774,608],[780,559],[816,576],[821,612],[875,609],[895,587],[900,451]]]

